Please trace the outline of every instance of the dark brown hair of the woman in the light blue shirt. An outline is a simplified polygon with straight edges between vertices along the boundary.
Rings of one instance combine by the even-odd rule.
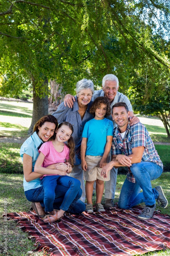
[[[56,131],[56,129],[57,129],[57,127],[58,127],[58,121],[57,121],[57,119],[54,117],[54,115],[45,115],[45,116],[43,116],[42,118],[40,118],[40,120],[38,120],[38,121],[36,122],[36,124],[34,125],[33,132],[38,133],[38,131],[39,131],[39,130],[38,130],[38,126],[41,127],[45,122],[54,123],[55,126],[56,126],[56,127],[55,127],[55,131]],[[51,138],[49,138],[49,141],[55,139],[55,137],[56,137],[55,131],[54,131],[53,136],[51,136]]]

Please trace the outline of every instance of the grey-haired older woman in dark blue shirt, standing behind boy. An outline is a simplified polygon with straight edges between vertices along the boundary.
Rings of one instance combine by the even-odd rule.
[[[93,115],[90,114],[89,110],[91,104],[91,97],[94,93],[94,84],[91,80],[82,79],[76,84],[76,96],[75,102],[72,108],[64,106],[62,102],[57,111],[53,115],[57,118],[58,122],[69,122],[73,125],[74,132],[72,134],[75,141],[75,156],[76,163],[72,169],[71,177],[74,177],[81,182],[81,189],[83,191],[80,200],[85,201],[85,187],[83,180],[83,170],[81,168],[81,142],[84,125],[87,121],[93,119]]]

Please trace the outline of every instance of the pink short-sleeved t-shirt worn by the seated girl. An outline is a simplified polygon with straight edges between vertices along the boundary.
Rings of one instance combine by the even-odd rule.
[[[42,152],[45,156],[42,167],[47,167],[51,164],[56,163],[64,163],[65,159],[69,159],[69,153],[70,149],[69,147],[64,143],[64,148],[62,152],[57,152],[53,146],[52,141],[47,141],[42,144],[38,152]],[[55,175],[55,174],[49,174],[49,175]],[[48,176],[48,174],[44,174],[40,177],[42,179],[44,176]]]

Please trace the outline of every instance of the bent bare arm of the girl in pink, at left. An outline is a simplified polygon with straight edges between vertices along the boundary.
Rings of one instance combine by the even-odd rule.
[[[43,155],[42,152],[40,152],[35,166],[34,166],[34,172],[36,173],[41,173],[41,174],[56,174],[56,175],[66,175],[67,172],[65,171],[61,171],[61,170],[57,170],[57,169],[47,169],[45,167],[42,167],[41,165],[43,164],[45,156]],[[40,175],[42,176],[42,175]]]

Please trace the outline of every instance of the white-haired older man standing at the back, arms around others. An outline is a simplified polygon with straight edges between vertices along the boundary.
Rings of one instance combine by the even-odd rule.
[[[117,102],[125,102],[128,106],[128,109],[130,111],[130,125],[136,124],[139,122],[139,119],[134,116],[132,105],[130,104],[129,99],[121,92],[118,92],[119,89],[119,80],[118,78],[113,74],[107,74],[102,79],[102,89],[94,91],[92,101],[94,101],[97,97],[107,97],[110,102],[110,107],[117,103]],[[67,94],[64,99],[64,105],[69,106],[72,108],[73,101],[75,101],[74,96]],[[110,119],[113,122],[114,128],[117,126],[115,122],[112,119],[112,115],[108,116],[107,119]],[[116,189],[116,179],[117,179],[117,169],[112,168],[110,172],[110,180],[105,183],[105,208],[113,207],[113,199],[115,195],[115,189]]]

